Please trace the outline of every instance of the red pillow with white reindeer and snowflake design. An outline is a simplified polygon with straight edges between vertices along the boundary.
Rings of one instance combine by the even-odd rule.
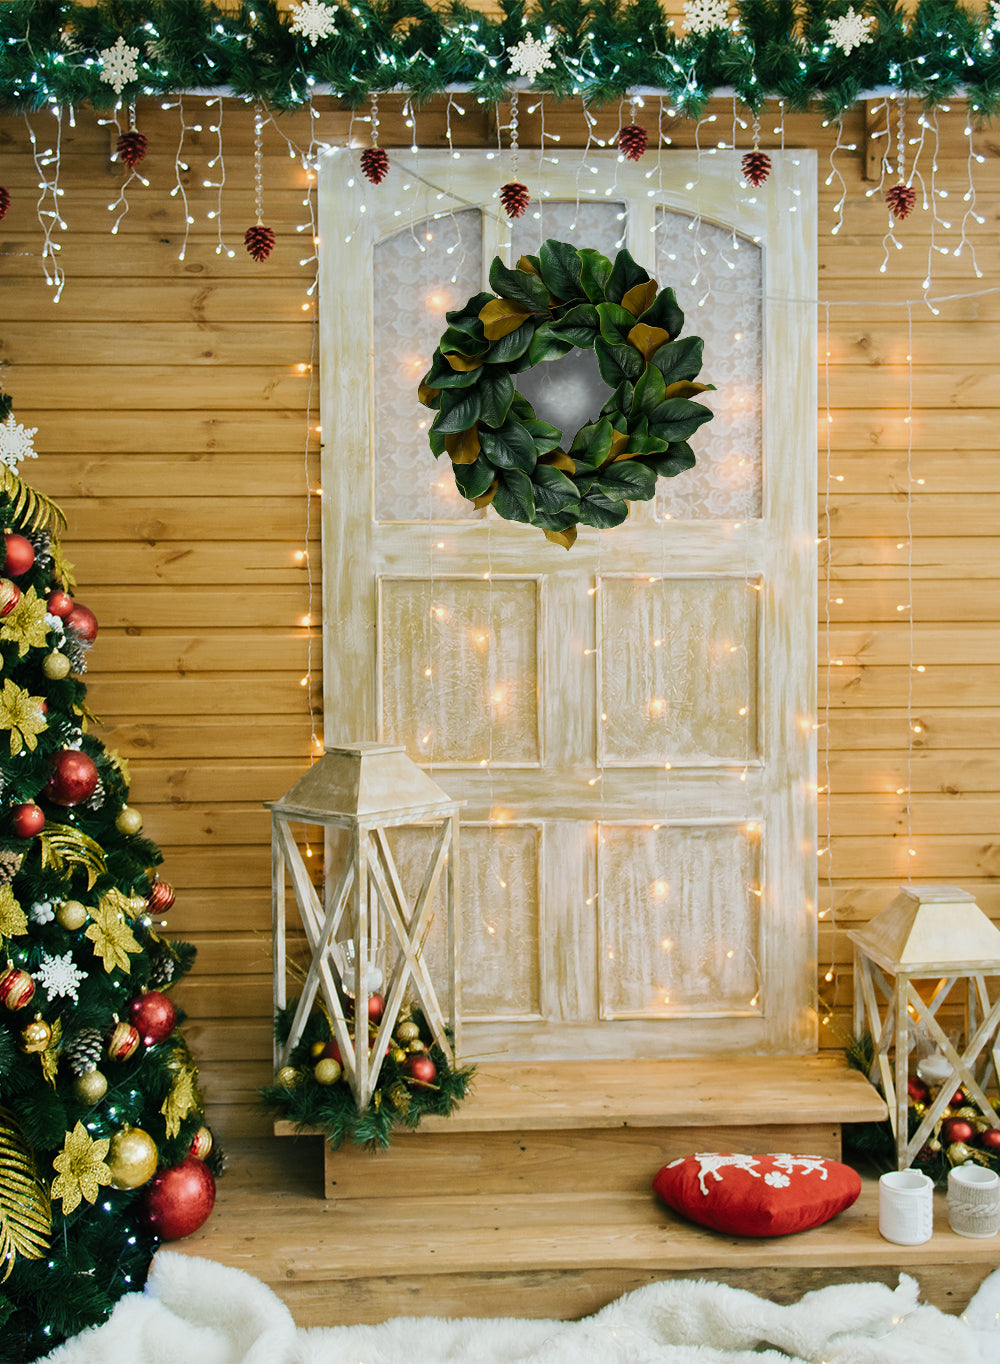
[[[667,1207],[716,1232],[787,1236],[850,1207],[861,1176],[820,1155],[703,1153],[664,1165],[652,1187]]]

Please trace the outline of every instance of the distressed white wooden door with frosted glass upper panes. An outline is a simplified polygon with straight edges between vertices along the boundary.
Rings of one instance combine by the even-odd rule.
[[[472,1058],[816,1045],[816,162],[644,162],[546,164],[516,224],[486,153],[321,168],[326,741],[467,802]],[[416,401],[445,312],[546,237],[628,246],[718,386],[697,466],[570,551],[464,502]],[[517,382],[570,432],[607,397],[569,357]]]

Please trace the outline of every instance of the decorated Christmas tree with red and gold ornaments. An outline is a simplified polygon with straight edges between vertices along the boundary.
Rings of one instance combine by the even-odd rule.
[[[199,1226],[218,1153],[169,989],[194,948],[160,933],[173,891],[89,732],[97,619],[72,596],[65,518],[0,391],[0,1353],[31,1360],[141,1289]]]

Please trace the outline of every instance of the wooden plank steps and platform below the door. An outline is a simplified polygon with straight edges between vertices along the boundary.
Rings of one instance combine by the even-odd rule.
[[[588,1063],[570,1064],[585,1065],[592,1083],[565,1063],[547,1076],[547,1098],[546,1078],[528,1075],[538,1067],[521,1068],[517,1082],[483,1076],[447,1123],[407,1133],[389,1153],[334,1153],[326,1174],[318,1136],[233,1146],[213,1217],[169,1248],[247,1270],[300,1326],[402,1315],[570,1319],[671,1278],[794,1301],[828,1284],[896,1284],[900,1270],[926,1301],[960,1312],[997,1264],[996,1240],[948,1229],[943,1198],[925,1245],[883,1240],[874,1181],[832,1222],[767,1240],[692,1226],[655,1202],[652,1176],[678,1143],[686,1153],[724,1150],[735,1143],[703,1139],[739,1136],[741,1148],[765,1150],[787,1136],[780,1147],[806,1154],[798,1138],[825,1131],[839,1140],[844,1113],[884,1114],[879,1095],[832,1058],[741,1060],[729,1073],[718,1061],[629,1063],[652,1067],[633,1072],[641,1083],[630,1098],[623,1080],[613,1095]]]

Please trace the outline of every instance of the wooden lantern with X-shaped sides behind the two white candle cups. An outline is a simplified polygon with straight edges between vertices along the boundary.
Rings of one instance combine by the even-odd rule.
[[[847,937],[854,943],[854,1031],[859,1035],[868,1030],[874,1039],[870,1079],[881,1079],[898,1168],[913,1162],[959,1087],[989,1125],[1000,1128],[985,1093],[990,1073],[1000,1083],[1000,994],[992,1000],[986,986],[988,977],[1000,977],[1000,930],[975,899],[956,885],[900,887],[870,923],[851,929]],[[933,982],[925,990],[929,998],[917,990],[915,981]],[[937,1020],[959,982],[966,988],[960,1054]],[[920,1031],[939,1048],[947,1073],[943,1065],[940,1088],[910,1138],[909,1061]]]

